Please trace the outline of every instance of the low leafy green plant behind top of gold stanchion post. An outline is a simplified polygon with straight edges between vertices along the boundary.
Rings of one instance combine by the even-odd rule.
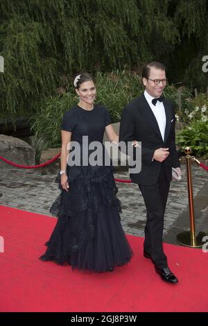
[[[190,146],[193,155],[196,157],[208,158],[208,123],[203,121],[193,121],[189,126],[180,130],[176,136],[177,145],[181,146],[181,151]]]

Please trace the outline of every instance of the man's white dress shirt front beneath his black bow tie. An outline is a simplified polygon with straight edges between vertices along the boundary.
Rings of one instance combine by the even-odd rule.
[[[144,96],[146,98],[146,101],[148,101],[148,105],[150,105],[151,110],[153,111],[153,114],[155,115],[155,119],[157,120],[157,124],[159,126],[159,131],[162,135],[162,139],[164,141],[164,133],[166,129],[166,112],[164,110],[164,105],[162,102],[157,101],[156,105],[152,103],[153,96],[150,96],[146,90],[144,91]]]

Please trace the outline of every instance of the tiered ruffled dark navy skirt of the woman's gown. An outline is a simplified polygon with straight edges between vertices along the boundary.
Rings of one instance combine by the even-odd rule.
[[[40,259],[95,272],[128,263],[132,250],[121,226],[112,166],[71,166],[67,176],[69,192],[60,186],[50,209],[58,221]]]

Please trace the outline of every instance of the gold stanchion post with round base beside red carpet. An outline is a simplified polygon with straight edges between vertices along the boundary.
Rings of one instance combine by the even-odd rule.
[[[189,214],[190,214],[190,232],[182,232],[177,234],[177,242],[182,246],[200,248],[205,243],[202,238],[206,235],[204,232],[199,232],[196,237],[195,231],[195,218],[194,218],[194,207],[193,207],[193,187],[191,180],[191,147],[185,148],[186,162],[187,162],[187,186],[189,194]]]

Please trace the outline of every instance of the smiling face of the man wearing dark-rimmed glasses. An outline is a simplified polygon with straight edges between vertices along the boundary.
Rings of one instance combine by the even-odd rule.
[[[164,70],[160,70],[154,67],[150,68],[150,76],[148,79],[143,78],[143,84],[145,86],[146,92],[150,94],[150,96],[153,97],[159,97],[162,95],[162,91],[164,87],[166,87],[166,83],[162,84],[160,81],[158,85],[155,85],[153,80],[155,79],[165,79],[166,78],[166,72]],[[153,80],[150,80],[153,79]]]

